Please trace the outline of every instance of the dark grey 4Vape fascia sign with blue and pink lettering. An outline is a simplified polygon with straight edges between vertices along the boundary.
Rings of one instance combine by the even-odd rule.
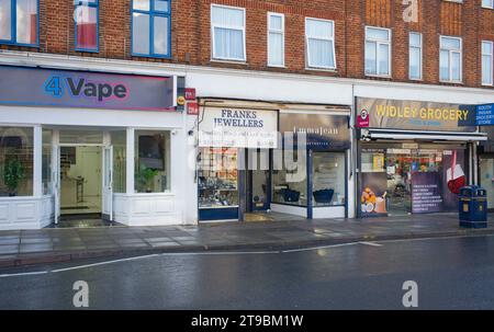
[[[0,104],[166,111],[173,78],[0,66]]]

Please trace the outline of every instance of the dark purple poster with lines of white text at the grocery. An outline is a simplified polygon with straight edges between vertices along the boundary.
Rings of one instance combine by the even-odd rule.
[[[412,174],[412,213],[440,213],[442,203],[439,172],[414,172]]]

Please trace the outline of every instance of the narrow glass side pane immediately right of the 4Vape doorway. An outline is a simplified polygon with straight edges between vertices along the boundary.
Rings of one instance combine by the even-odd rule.
[[[126,192],[126,160],[127,160],[127,140],[126,131],[111,131],[113,146],[113,192]]]

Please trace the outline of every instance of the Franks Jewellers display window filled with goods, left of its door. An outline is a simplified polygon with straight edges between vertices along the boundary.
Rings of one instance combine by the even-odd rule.
[[[199,207],[238,207],[238,150],[201,148],[199,156]]]

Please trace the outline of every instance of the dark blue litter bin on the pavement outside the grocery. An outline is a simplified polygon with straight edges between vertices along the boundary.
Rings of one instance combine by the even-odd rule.
[[[480,186],[470,185],[460,188],[460,227],[487,228],[487,192]]]

